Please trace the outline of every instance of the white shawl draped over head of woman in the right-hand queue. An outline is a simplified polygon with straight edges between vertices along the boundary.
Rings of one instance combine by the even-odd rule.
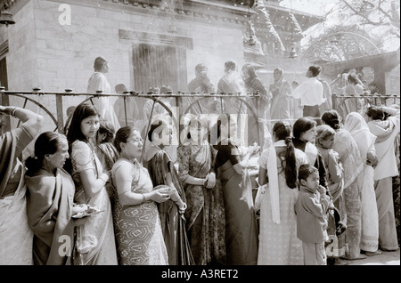
[[[349,113],[344,122],[344,129],[351,133],[354,138],[361,153],[361,158],[366,158],[368,150],[372,148],[376,141],[376,136],[369,130],[364,117],[357,112]]]

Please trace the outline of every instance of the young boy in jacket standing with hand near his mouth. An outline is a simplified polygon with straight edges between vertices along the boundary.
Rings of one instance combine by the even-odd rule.
[[[295,212],[297,237],[302,241],[305,265],[326,265],[324,241],[327,237],[327,211],[332,206],[330,197],[319,185],[319,172],[315,166],[299,166],[300,187]]]

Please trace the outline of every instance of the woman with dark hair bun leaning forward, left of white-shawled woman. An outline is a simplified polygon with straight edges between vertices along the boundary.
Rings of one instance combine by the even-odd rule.
[[[322,121],[330,125],[336,131],[333,150],[340,156],[340,162],[344,167],[344,191],[345,211],[347,214],[347,230],[345,232],[348,251],[343,256],[347,260],[364,259],[361,254],[361,228],[362,207],[361,190],[363,182],[364,160],[361,158],[358,146],[352,135],[340,124],[340,115],[336,110],[323,113]],[[340,207],[337,207],[339,210]]]

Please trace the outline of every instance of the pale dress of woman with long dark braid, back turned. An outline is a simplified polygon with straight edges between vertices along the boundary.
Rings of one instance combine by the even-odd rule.
[[[260,207],[260,229],[258,247],[258,265],[302,265],[304,263],[302,242],[297,237],[297,215],[294,206],[298,199],[298,188],[291,189],[287,186],[283,167],[285,158],[285,143],[283,141],[274,143],[274,151],[265,150],[258,159],[259,166],[267,170],[269,183],[266,184],[266,192],[262,198]],[[272,167],[269,166],[270,153],[276,155],[275,165],[277,174],[270,174]],[[301,150],[295,149],[296,168],[307,163],[307,157]],[[283,163],[284,162],[284,163]],[[270,187],[273,179],[276,179],[279,190],[279,214],[280,221],[274,222],[271,203],[273,193]]]

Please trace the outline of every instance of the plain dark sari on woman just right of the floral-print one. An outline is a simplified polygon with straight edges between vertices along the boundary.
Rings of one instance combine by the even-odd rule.
[[[248,169],[237,174],[233,164],[241,161],[238,146],[229,140],[218,142],[217,179],[223,187],[225,203],[225,247],[230,265],[256,265],[258,262],[258,222]],[[226,160],[224,163],[222,160]],[[222,164],[223,163],[223,164]]]

